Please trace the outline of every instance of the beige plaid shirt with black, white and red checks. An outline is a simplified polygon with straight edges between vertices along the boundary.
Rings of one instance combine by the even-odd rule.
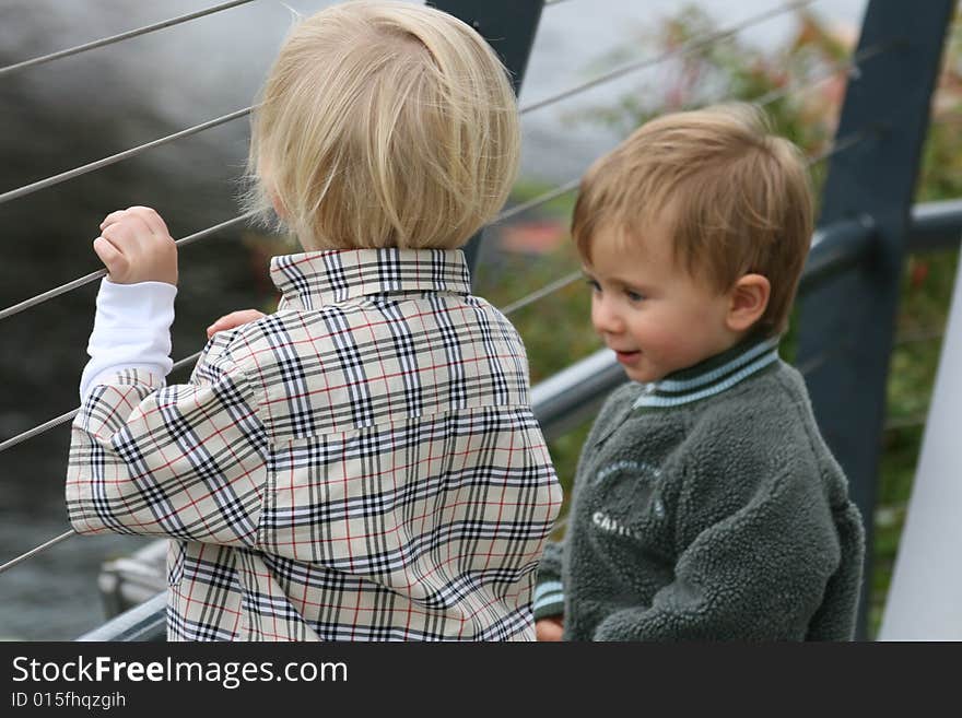
[[[532,639],[561,503],[524,345],[460,251],[277,257],[278,313],[73,423],[74,529],[165,535],[171,640]]]

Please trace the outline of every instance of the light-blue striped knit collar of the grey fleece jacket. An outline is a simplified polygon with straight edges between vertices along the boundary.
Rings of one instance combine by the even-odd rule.
[[[746,340],[660,381],[643,384],[632,408],[678,407],[722,393],[777,362],[778,339]]]

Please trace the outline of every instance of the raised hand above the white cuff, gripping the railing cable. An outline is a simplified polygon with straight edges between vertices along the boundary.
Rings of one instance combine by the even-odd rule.
[[[177,245],[149,207],[113,212],[101,222],[94,251],[115,284],[166,282],[177,286]]]

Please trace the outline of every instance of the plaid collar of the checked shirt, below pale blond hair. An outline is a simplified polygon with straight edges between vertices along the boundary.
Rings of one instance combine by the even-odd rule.
[[[271,259],[271,280],[291,309],[385,292],[470,294],[471,279],[460,249],[331,249]]]

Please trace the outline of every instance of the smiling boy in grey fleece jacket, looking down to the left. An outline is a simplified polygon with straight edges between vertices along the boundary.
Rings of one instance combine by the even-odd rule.
[[[591,322],[631,381],[539,570],[539,638],[847,639],[858,510],[778,339],[809,249],[805,163],[760,110],[655,119],[586,174]]]

